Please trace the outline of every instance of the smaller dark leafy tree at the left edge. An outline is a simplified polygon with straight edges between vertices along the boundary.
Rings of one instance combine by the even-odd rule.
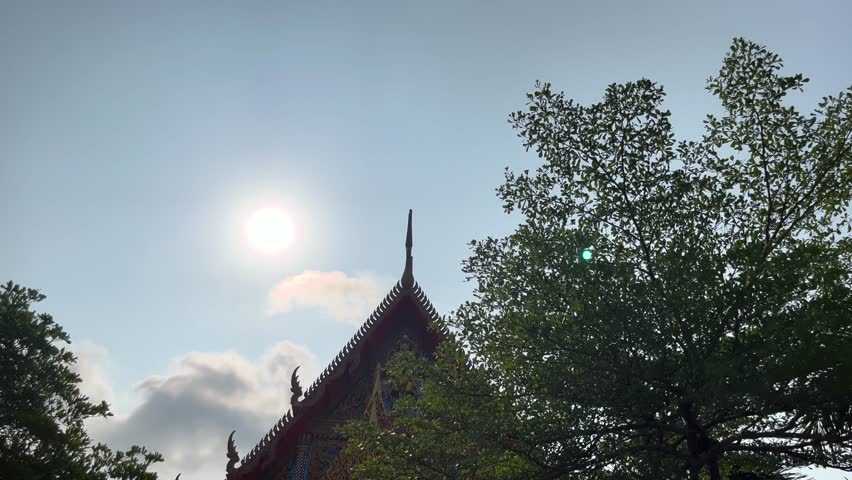
[[[109,406],[80,393],[68,334],[33,310],[44,298],[0,286],[0,479],[155,480],[148,467],[159,453],[92,443],[83,421],[110,416]]]

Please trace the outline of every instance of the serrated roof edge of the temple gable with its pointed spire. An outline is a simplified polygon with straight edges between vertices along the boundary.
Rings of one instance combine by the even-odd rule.
[[[308,420],[305,416],[309,416],[317,402],[319,402],[326,392],[329,384],[334,380],[342,377],[347,371],[353,371],[358,367],[361,361],[361,351],[364,345],[368,343],[373,333],[387,320],[388,312],[393,310],[393,307],[399,304],[403,299],[410,298],[417,306],[422,317],[428,323],[428,326],[441,338],[449,338],[450,332],[447,328],[445,317],[438,314],[435,306],[420,288],[420,285],[414,280],[412,269],[411,256],[411,210],[408,211],[408,229],[406,234],[406,262],[402,278],[393,286],[385,298],[379,303],[376,309],[367,317],[367,320],[361,325],[352,339],[346,343],[342,350],[334,357],[329,365],[319,374],[317,379],[308,387],[304,398],[294,405],[269,432],[261,438],[242,459],[239,467],[234,468],[233,463],[229,462],[227,469],[227,480],[237,480],[243,478],[244,475],[253,472],[257,468],[264,468],[262,465],[264,460],[268,460],[273,452],[277,450],[277,445],[280,442],[290,440],[290,436],[298,435],[296,425]],[[233,433],[228,438],[228,452],[233,449]]]

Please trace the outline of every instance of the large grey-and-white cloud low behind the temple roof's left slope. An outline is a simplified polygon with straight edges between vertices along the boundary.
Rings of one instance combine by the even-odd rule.
[[[178,358],[165,375],[136,386],[138,405],[128,414],[90,425],[96,441],[116,449],[134,444],[159,451],[160,478],[224,478],[225,445],[237,430],[244,456],[290,406],[290,373],[297,366],[302,385],[318,371],[316,356],[284,341],[257,362],[235,352],[192,352]]]

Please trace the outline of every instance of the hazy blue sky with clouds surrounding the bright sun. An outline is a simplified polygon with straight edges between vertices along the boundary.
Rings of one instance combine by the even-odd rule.
[[[468,299],[468,242],[504,235],[495,188],[534,168],[508,124],[536,80],[580,103],[663,84],[680,139],[737,36],[852,84],[846,1],[12,2],[0,0],[0,280],[39,288],[84,389],[162,478],[222,478],[393,286]],[[264,255],[245,222],[292,217]],[[842,478],[830,472],[815,478]]]

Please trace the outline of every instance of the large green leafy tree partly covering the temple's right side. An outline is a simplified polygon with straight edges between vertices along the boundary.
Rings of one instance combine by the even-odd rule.
[[[649,80],[589,106],[537,83],[510,122],[541,163],[498,188],[524,221],[471,243],[457,340],[389,366],[422,395],[347,430],[356,476],[852,471],[852,88],[803,115],[781,68],[735,39],[724,114],[682,142]]]

